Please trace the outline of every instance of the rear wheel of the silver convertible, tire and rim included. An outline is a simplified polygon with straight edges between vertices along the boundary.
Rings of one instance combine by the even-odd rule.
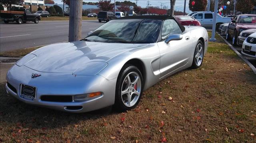
[[[202,66],[204,59],[204,45],[201,40],[198,40],[196,44],[196,49],[194,51],[192,69],[197,69]]]

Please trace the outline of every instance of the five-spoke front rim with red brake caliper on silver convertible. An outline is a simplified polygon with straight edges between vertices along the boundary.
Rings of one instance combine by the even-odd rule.
[[[127,74],[121,87],[121,98],[123,104],[127,107],[134,106],[140,97],[142,89],[142,84],[138,73],[130,72]]]

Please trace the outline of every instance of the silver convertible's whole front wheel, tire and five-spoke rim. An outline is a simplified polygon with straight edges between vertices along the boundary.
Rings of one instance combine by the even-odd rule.
[[[143,77],[133,65],[125,65],[116,82],[115,108],[122,112],[135,108],[143,91]]]

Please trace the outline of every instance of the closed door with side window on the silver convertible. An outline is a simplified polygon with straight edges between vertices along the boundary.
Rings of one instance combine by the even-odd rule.
[[[168,44],[165,43],[166,38],[171,34],[182,34],[183,38],[177,41],[170,41]],[[157,44],[160,51],[159,71],[161,72],[161,77],[163,77],[188,63],[191,55],[188,43],[191,42],[192,37],[188,33],[182,33],[175,20],[164,21],[161,36],[162,41],[159,41]]]

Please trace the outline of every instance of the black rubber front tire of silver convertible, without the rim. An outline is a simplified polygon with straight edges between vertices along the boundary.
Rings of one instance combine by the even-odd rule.
[[[123,84],[123,82],[125,82],[124,80],[125,80],[126,76],[131,73],[136,73],[139,76],[141,88],[140,88],[140,95],[137,97],[137,99],[131,98],[132,100],[134,100],[134,99],[136,100],[136,101],[134,101],[134,105],[128,107],[125,105],[124,101],[122,100],[121,91],[122,91],[122,84]],[[131,80],[132,80],[132,78],[131,78]],[[131,109],[135,108],[138,105],[138,103],[140,102],[140,98],[141,98],[142,92],[143,92],[143,86],[144,86],[144,80],[143,80],[140,70],[133,65],[124,65],[124,67],[121,69],[121,71],[118,75],[118,79],[116,82],[116,95],[115,95],[114,108],[120,112],[124,112],[124,111],[131,110]],[[135,89],[135,85],[132,85],[132,87],[134,87],[134,89]],[[127,89],[128,88],[129,87],[127,87]],[[138,89],[136,89],[136,90],[138,90]],[[134,90],[130,90],[130,91],[133,92]],[[129,92],[129,89],[128,89],[128,92]],[[134,94],[130,93],[130,95],[134,95]]]

